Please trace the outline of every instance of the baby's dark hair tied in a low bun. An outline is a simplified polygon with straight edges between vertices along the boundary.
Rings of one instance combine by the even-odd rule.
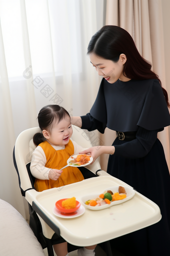
[[[47,105],[41,108],[38,113],[38,124],[41,131],[48,130],[51,131],[53,121],[59,122],[62,120],[65,115],[69,115],[69,113],[59,105]],[[33,136],[33,143],[38,146],[41,142],[45,141],[42,133],[36,133]]]

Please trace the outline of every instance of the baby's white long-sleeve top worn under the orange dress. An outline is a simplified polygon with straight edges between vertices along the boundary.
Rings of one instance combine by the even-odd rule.
[[[71,140],[71,139],[70,139]],[[76,142],[72,141],[73,147],[74,147],[74,155],[79,154],[79,152],[85,150]],[[55,150],[63,150],[65,149],[65,145],[60,146],[54,146],[51,145]],[[30,172],[31,174],[40,180],[49,180],[48,174],[51,170],[50,168],[45,167],[46,164],[46,157],[43,149],[40,146],[37,146],[35,150],[32,153],[31,163],[30,163]]]

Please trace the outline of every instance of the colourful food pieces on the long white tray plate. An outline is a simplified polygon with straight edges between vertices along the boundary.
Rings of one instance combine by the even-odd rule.
[[[120,193],[121,191],[123,191],[123,193]],[[124,198],[126,198],[126,191],[123,187],[119,186],[118,192],[113,193],[111,190],[107,190],[97,198],[87,200],[85,204],[89,206],[101,206]]]

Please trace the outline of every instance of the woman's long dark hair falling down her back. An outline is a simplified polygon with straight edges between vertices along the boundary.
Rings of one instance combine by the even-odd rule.
[[[124,64],[123,75],[135,80],[157,79],[161,81],[151,70],[151,64],[139,54],[130,34],[117,26],[103,26],[91,38],[87,54],[94,53],[97,56],[117,62],[121,53],[127,60]],[[162,87],[166,104],[169,107],[167,91]]]

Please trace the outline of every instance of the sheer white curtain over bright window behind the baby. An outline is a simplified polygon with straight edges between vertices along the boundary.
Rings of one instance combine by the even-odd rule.
[[[83,115],[100,78],[86,56],[104,0],[0,0],[0,198],[25,218],[12,150],[47,104]]]

